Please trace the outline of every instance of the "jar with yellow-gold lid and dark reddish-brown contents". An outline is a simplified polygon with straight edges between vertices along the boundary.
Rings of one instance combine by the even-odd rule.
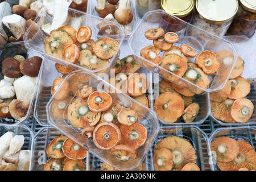
[[[195,0],[162,0],[161,8],[171,15],[175,15],[177,18],[190,22],[192,17],[192,11],[195,7]],[[168,15],[163,15],[160,18],[160,27],[166,28],[167,31],[179,33],[184,30],[186,24],[180,22],[179,19],[172,18]]]

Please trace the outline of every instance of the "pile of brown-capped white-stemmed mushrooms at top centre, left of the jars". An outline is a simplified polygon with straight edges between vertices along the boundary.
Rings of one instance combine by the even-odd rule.
[[[133,13],[131,12],[130,0],[97,0],[98,6],[95,7],[101,18],[118,22],[122,25],[125,34],[131,32],[131,21]],[[118,3],[118,5],[117,5]],[[104,24],[98,25],[101,29]]]

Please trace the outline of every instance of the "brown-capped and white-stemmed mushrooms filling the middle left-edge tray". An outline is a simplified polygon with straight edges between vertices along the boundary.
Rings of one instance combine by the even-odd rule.
[[[3,60],[4,78],[0,81],[1,118],[13,117],[18,121],[25,119],[41,64],[42,58],[38,56],[25,60],[22,55],[16,55]]]

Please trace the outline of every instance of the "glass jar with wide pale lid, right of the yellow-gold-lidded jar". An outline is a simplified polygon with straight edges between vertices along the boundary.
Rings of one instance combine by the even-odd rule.
[[[228,7],[228,8],[227,8]],[[224,36],[238,10],[237,0],[197,0],[192,24],[217,36]],[[189,35],[208,39],[189,31]]]

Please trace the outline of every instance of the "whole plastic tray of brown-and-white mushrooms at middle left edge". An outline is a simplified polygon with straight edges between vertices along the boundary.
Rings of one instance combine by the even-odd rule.
[[[16,126],[32,114],[44,58],[23,42],[9,43],[0,51],[0,63],[0,126]]]

